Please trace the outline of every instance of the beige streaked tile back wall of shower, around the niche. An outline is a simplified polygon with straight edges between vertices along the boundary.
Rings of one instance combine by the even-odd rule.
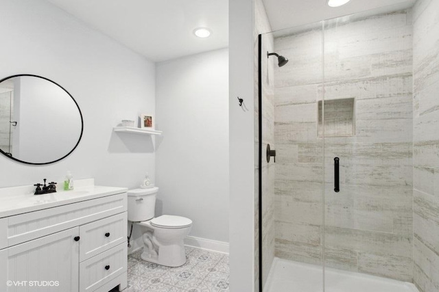
[[[290,60],[274,70],[276,256],[320,264],[324,219],[327,266],[412,281],[411,10],[325,22],[324,60],[318,26],[274,49]],[[325,138],[324,152],[323,94],[355,98],[355,135]]]

